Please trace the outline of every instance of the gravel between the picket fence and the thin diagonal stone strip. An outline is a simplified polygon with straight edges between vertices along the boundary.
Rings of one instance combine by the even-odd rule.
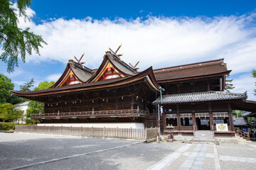
[[[26,133],[0,133],[0,142],[0,169],[134,143],[125,140]]]

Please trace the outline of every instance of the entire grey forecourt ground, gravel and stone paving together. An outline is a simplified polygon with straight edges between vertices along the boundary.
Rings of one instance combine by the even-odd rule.
[[[28,165],[28,166],[27,166]],[[0,169],[256,169],[256,143],[144,143],[0,133]]]

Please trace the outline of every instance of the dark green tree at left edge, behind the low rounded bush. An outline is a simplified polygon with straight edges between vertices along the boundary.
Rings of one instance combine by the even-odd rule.
[[[14,90],[14,84],[11,83],[11,79],[0,74],[0,104],[2,103],[21,103],[21,98],[11,94],[10,90]]]

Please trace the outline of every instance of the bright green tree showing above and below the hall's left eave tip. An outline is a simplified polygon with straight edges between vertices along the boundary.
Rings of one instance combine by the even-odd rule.
[[[37,87],[35,87],[34,90],[47,89],[48,87],[53,86],[53,84],[54,84],[54,81],[50,81],[50,82],[43,81]],[[27,118],[30,118],[30,115],[33,115],[33,114],[43,113],[44,103],[41,103],[38,101],[31,101],[28,106],[29,108],[26,111]]]

